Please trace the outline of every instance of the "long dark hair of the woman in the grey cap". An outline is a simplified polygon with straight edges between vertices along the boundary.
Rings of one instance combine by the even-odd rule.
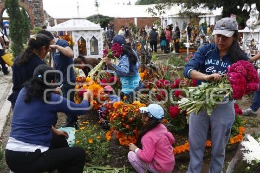
[[[230,58],[230,61],[232,63],[236,63],[239,60],[243,60],[246,56],[246,53],[243,52],[243,50],[240,48],[238,44],[238,31],[235,31],[233,34],[233,37],[235,38],[232,45],[230,46],[228,50],[228,55]]]

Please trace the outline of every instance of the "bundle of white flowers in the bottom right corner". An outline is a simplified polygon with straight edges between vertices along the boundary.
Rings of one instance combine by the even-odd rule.
[[[245,135],[227,172],[256,173],[260,171],[260,136]]]

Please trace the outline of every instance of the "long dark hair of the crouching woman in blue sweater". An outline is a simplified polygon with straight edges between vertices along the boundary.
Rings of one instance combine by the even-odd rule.
[[[47,72],[48,70],[54,70],[54,68],[41,64],[35,68],[32,79],[25,83],[24,86],[27,88],[24,102],[29,103],[33,98],[44,100],[44,91],[46,89],[54,89],[55,86],[47,85],[45,82],[51,83],[56,81],[56,72]],[[46,73],[46,75],[44,75]],[[51,93],[46,93],[46,100],[50,101]]]

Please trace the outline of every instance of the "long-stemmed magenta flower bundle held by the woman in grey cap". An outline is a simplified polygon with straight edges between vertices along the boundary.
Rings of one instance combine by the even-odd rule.
[[[187,114],[197,114],[204,109],[210,115],[218,103],[228,99],[241,99],[243,95],[258,90],[258,83],[258,73],[252,64],[238,61],[228,68],[227,75],[220,81],[188,87],[189,98],[182,98],[178,105]]]

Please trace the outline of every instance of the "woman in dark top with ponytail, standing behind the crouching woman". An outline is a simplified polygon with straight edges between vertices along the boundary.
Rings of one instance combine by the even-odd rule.
[[[32,78],[34,69],[39,64],[45,64],[43,59],[46,57],[50,46],[50,38],[44,34],[38,34],[31,38],[27,48],[20,54],[13,64],[13,93],[8,98],[14,108],[17,96],[23,88],[23,84]]]

